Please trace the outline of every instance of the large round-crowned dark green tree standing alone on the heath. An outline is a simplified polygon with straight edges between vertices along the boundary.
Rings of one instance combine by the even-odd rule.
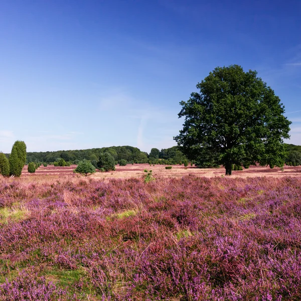
[[[200,92],[181,101],[183,129],[174,139],[189,159],[231,165],[283,166],[290,121],[274,91],[242,67],[217,67],[197,84]]]

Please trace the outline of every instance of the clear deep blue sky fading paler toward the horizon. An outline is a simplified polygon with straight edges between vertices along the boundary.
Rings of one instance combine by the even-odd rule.
[[[0,150],[175,145],[217,66],[258,72],[301,144],[301,1],[2,0]]]

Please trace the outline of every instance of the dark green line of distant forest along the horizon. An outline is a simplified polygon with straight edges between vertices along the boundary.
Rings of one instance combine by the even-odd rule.
[[[287,158],[286,162],[294,162],[296,165],[301,164],[301,145],[286,144]],[[120,160],[125,160],[127,163],[157,163],[164,160],[165,164],[179,164],[189,159],[181,152],[179,146],[173,146],[170,148],[152,148],[151,152],[141,152],[137,147],[133,146],[111,146],[102,148],[90,148],[90,149],[76,149],[76,150],[57,150],[57,152],[30,152],[27,153],[26,164],[29,162],[40,162],[52,164],[58,162],[60,159],[64,159],[70,164],[78,164],[80,160],[86,159],[91,162],[99,160],[101,153],[110,153],[116,164]],[[6,154],[9,157],[9,154]]]

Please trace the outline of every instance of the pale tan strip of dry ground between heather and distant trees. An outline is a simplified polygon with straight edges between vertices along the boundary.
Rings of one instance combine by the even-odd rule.
[[[187,167],[184,165],[173,165],[171,170],[166,170],[165,165],[155,165],[149,166],[148,164],[128,164],[126,166],[116,166],[116,171],[100,173],[97,172],[94,175],[91,175],[90,178],[94,179],[107,179],[107,178],[137,178],[145,175],[144,170],[152,170],[153,176],[156,177],[167,177],[167,178],[180,178],[183,176],[199,176],[199,177],[221,177],[225,175],[224,167],[214,168],[214,169],[200,169],[196,167]],[[73,170],[76,168],[76,165],[70,167],[54,167],[49,165],[47,167],[40,166],[35,175],[68,175],[73,174]],[[27,171],[27,166],[24,168],[22,175],[30,176],[31,174]],[[289,167],[284,166],[283,170],[275,167],[270,169],[269,167],[261,166],[250,166],[249,169],[244,169],[243,171],[233,171],[232,177],[247,178],[247,177],[301,177],[301,166],[299,167]]]

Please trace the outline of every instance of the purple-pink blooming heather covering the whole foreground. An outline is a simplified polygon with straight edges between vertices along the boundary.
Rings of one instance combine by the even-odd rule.
[[[1,300],[300,300],[299,177],[0,179]]]

